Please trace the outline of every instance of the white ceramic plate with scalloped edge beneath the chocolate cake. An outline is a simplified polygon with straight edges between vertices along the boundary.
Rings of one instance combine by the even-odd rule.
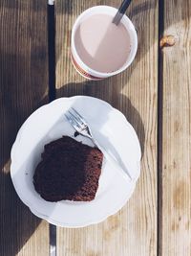
[[[134,180],[118,172],[104,158],[96,198],[91,202],[62,200],[49,202],[34,190],[32,176],[41,159],[44,145],[62,135],[74,137],[74,128],[64,113],[71,107],[88,121],[99,144],[120,158]],[[85,144],[91,141],[75,138]],[[11,149],[11,178],[21,200],[37,217],[55,225],[81,227],[115,214],[131,197],[140,172],[140,147],[137,134],[124,115],[111,105],[92,97],[60,98],[38,108],[20,128]]]

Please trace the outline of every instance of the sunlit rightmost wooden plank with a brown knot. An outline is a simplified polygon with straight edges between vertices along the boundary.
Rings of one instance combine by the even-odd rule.
[[[162,212],[159,255],[191,255],[191,2],[164,1]]]

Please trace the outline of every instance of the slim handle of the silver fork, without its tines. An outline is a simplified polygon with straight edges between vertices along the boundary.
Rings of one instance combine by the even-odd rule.
[[[129,171],[126,169],[125,171],[120,167],[119,163],[117,162],[117,160],[114,158],[113,155],[111,155],[109,152],[107,152],[102,146],[99,145],[99,143],[97,143],[97,141],[91,137],[92,142],[96,145],[96,147],[103,152],[103,155],[105,156],[105,158],[111,162],[114,166],[116,166],[117,170],[120,171],[122,173],[122,175],[125,178],[128,178],[128,180],[132,181],[134,178],[129,174]]]

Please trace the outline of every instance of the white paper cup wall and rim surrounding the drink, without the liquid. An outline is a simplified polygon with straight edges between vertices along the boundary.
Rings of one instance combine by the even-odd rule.
[[[102,73],[98,72],[92,68],[90,68],[86,63],[82,61],[81,58],[79,58],[75,44],[74,44],[74,35],[75,32],[80,25],[80,23],[83,21],[83,19],[87,18],[88,16],[91,16],[93,14],[109,14],[111,16],[115,16],[117,13],[117,9],[114,7],[109,7],[109,6],[96,6],[92,7],[85,12],[82,12],[77,19],[74,22],[74,27],[72,31],[72,45],[71,45],[71,58],[72,62],[74,64],[74,68],[76,71],[84,78],[89,79],[89,80],[101,80],[105,79],[114,75],[117,75],[118,73],[124,71],[134,60],[137,50],[138,50],[138,35],[135,30],[135,27],[131,20],[126,16],[123,15],[121,19],[121,23],[124,25],[124,27],[127,29],[128,34],[130,35],[131,39],[131,50],[129,55],[127,56],[126,62],[121,66],[119,69],[117,69],[114,72],[111,73]]]

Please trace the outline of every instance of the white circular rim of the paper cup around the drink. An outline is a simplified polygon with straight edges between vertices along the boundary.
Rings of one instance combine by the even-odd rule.
[[[127,61],[125,62],[125,64],[123,64],[122,67],[120,67],[119,69],[117,69],[116,71],[114,72],[99,72],[99,71],[96,71],[95,69],[92,69],[91,67],[89,67],[86,63],[84,63],[84,61],[78,56],[77,54],[77,51],[76,51],[76,48],[75,48],[75,45],[74,45],[74,34],[75,34],[75,31],[78,27],[78,24],[80,22],[80,20],[89,12],[92,12],[93,10],[100,10],[101,9],[110,9],[111,11],[115,11],[117,12],[117,9],[114,8],[114,7],[111,7],[111,6],[96,6],[96,7],[91,7],[87,10],[85,10],[84,12],[82,12],[81,14],[79,14],[79,16],[76,18],[75,22],[74,22],[74,26],[73,26],[73,29],[72,29],[72,38],[71,38],[71,45],[72,45],[72,54],[74,55],[74,58],[77,58],[77,62],[80,63],[80,65],[82,66],[82,68],[84,70],[88,70],[88,72],[94,74],[94,76],[97,76],[97,77],[111,77],[111,76],[114,76],[114,75],[117,75],[119,73],[121,73],[122,71],[124,71],[127,67],[130,66],[130,64],[133,62],[134,58],[136,57],[136,54],[137,54],[137,50],[138,50],[138,35],[137,35],[137,32],[136,32],[136,29],[135,29],[135,26],[134,24],[132,23],[132,21],[129,19],[129,17],[124,14],[121,21],[124,22],[127,24],[130,25],[130,29],[131,29],[131,36],[133,36],[134,38],[134,47],[132,47],[131,49],[131,58],[128,58]],[[98,12],[97,12],[98,13]],[[126,28],[126,27],[125,27]]]

